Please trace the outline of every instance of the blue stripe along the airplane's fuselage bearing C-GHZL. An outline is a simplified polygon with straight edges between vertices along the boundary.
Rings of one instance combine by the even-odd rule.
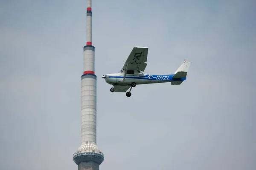
[[[184,81],[186,78],[172,78],[174,74],[171,75],[126,75],[125,78],[133,79],[143,79],[143,80],[159,80],[159,81]],[[120,76],[109,76],[109,78],[124,78],[123,75]]]

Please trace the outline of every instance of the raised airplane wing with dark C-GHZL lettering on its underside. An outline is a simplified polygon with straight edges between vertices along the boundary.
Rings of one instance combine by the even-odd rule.
[[[148,58],[148,47],[136,46],[132,49],[131,54],[128,56],[127,60],[122,69],[127,70],[139,70],[144,72],[147,66]]]

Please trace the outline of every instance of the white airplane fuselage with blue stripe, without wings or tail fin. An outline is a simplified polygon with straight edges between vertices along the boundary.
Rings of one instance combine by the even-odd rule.
[[[153,84],[153,83],[165,83],[171,81],[184,81],[186,78],[172,78],[175,74],[167,75],[149,75],[149,74],[126,74],[125,80],[122,73],[107,74],[105,81],[112,85],[130,85],[132,82],[136,84]]]

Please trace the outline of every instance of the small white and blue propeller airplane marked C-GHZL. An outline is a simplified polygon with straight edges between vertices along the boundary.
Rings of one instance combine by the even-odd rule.
[[[102,78],[108,84],[113,85],[111,92],[126,92],[131,97],[131,89],[137,84],[153,84],[171,82],[172,85],[180,85],[186,80],[186,75],[191,62],[184,61],[174,74],[149,75],[144,74],[147,66],[148,48],[136,46],[131,51],[122,69],[116,74],[103,75]]]

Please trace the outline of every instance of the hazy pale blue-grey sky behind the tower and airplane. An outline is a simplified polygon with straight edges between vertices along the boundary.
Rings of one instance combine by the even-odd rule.
[[[86,0],[0,0],[0,169],[76,170]],[[100,170],[256,169],[256,2],[93,0]],[[148,47],[146,74],[187,80],[111,93],[102,75]]]

